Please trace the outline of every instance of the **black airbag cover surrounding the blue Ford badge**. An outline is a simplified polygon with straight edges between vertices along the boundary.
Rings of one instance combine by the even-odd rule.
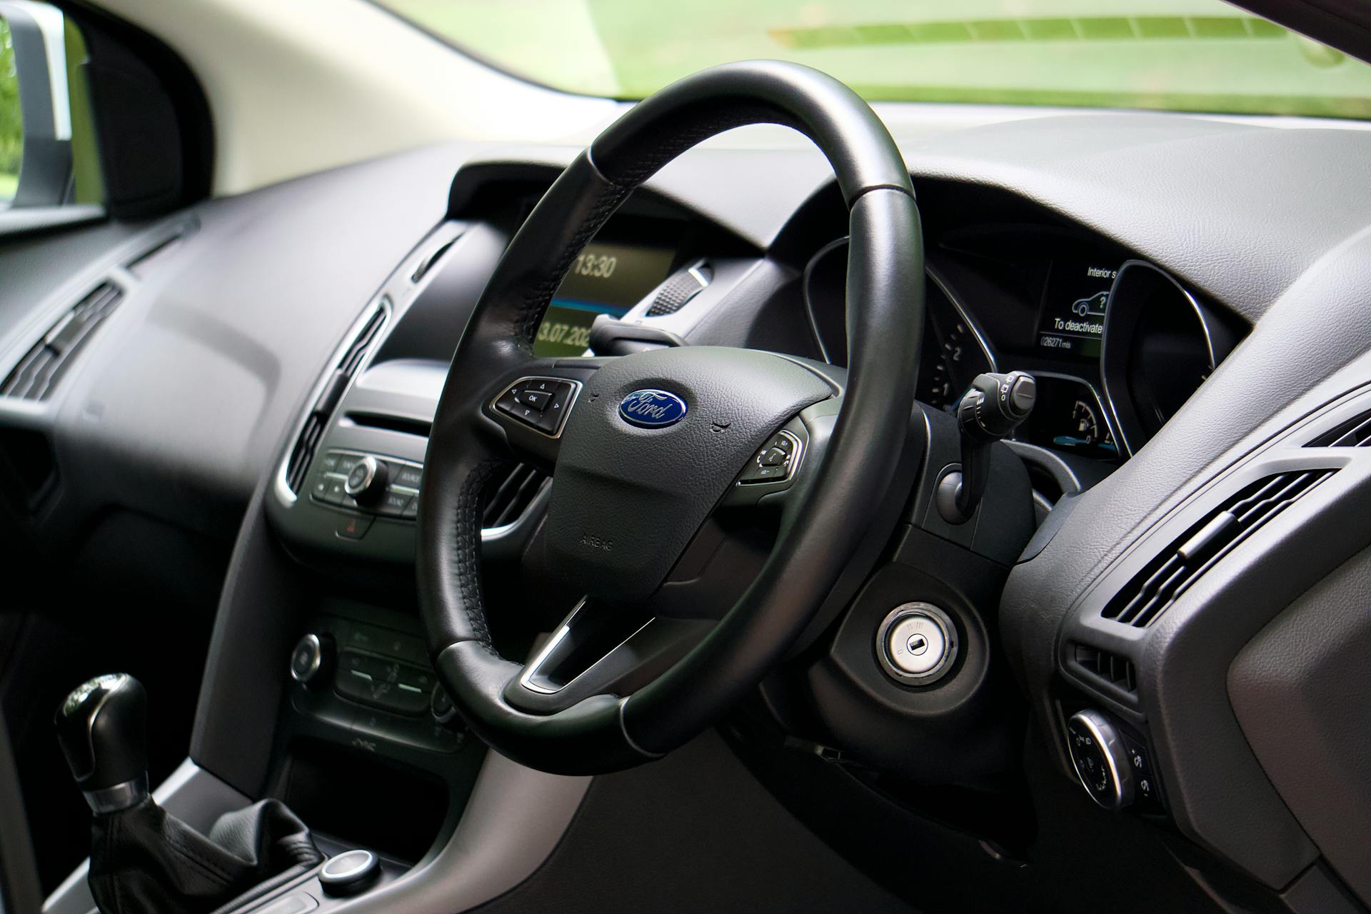
[[[620,402],[643,388],[681,397],[686,417],[659,429],[624,421]],[[610,603],[647,599],[753,452],[832,393],[813,371],[751,349],[658,349],[605,366],[566,421],[550,570]]]

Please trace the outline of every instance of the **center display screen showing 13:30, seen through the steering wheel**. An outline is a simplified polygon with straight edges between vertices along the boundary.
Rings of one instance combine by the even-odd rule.
[[[614,318],[643,300],[666,278],[675,252],[669,248],[594,241],[566,271],[543,315],[533,354],[581,355],[591,341],[595,318]]]

